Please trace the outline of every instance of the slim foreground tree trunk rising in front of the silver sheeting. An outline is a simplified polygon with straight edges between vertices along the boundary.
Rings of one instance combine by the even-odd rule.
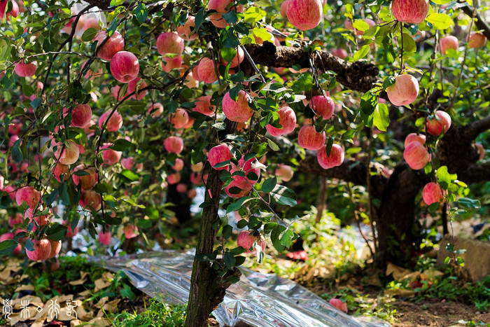
[[[226,120],[226,124],[227,128],[223,131],[223,134],[232,133],[235,130],[236,123]],[[219,137],[215,138],[213,142],[218,143],[218,139]],[[202,209],[193,273],[190,278],[186,326],[207,326],[209,315],[223,302],[226,288],[231,284],[226,279],[232,275],[240,275],[239,270],[235,268],[234,271],[228,270],[225,276],[220,277],[218,270],[214,269],[213,264],[203,258],[213,253],[214,239],[217,231],[217,229],[213,228],[213,224],[219,220],[218,208],[222,186],[220,176],[220,170],[209,169],[206,195],[204,197],[206,207]]]

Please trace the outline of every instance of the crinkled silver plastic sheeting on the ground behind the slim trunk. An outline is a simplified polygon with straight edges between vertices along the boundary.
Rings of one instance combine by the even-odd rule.
[[[194,251],[162,251],[132,256],[89,258],[117,272],[123,270],[134,286],[172,304],[186,303]],[[213,312],[220,326],[238,322],[252,326],[388,327],[388,323],[340,312],[294,281],[239,267],[242,276],[226,291]]]

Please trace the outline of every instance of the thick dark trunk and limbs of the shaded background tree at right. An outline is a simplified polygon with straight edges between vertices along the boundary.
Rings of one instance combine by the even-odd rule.
[[[449,172],[458,174],[465,183],[490,180],[490,164],[476,163],[478,151],[472,142],[482,132],[490,129],[490,117],[478,120],[467,126],[453,126],[437,146],[437,158],[446,165]],[[339,167],[323,169],[316,155],[309,154],[300,162],[300,171],[328,178],[342,179],[357,185],[366,185],[365,165],[355,160],[346,160]],[[371,162],[371,172],[381,172],[383,167]],[[415,197],[420,189],[430,181],[423,171],[414,171],[402,160],[389,179],[376,174],[371,176],[370,193],[381,200],[381,205],[373,211],[376,222],[379,251],[377,263],[380,267],[393,262],[407,263],[416,248]]]

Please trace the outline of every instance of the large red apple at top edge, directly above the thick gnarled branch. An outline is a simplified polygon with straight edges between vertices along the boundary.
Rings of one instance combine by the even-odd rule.
[[[286,15],[294,27],[307,31],[320,24],[323,6],[320,0],[290,0]]]

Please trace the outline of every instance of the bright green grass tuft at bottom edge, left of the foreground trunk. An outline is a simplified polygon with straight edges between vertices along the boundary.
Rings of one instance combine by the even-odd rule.
[[[160,298],[145,302],[144,312],[121,312],[109,316],[116,327],[183,326],[186,322],[187,305],[167,305]]]

